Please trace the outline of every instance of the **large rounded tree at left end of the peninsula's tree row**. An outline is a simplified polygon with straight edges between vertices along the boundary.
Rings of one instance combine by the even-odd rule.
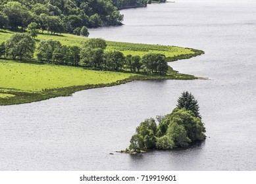
[[[13,34],[5,42],[5,53],[14,60],[18,57],[32,58],[36,49],[36,42],[29,34]]]

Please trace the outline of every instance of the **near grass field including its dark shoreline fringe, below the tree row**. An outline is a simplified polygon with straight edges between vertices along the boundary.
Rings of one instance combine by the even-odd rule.
[[[134,80],[193,80],[170,70],[168,75],[86,70],[74,66],[0,60],[0,105],[32,103],[70,96],[76,91],[119,85]]]

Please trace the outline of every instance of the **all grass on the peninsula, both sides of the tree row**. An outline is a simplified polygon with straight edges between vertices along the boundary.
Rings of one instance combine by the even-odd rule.
[[[0,43],[6,41],[13,32],[0,30]],[[63,45],[81,46],[88,38],[70,34],[42,35],[42,39],[55,39]],[[120,43],[107,41],[107,50],[117,50],[124,55],[163,53],[170,60],[191,58],[203,51],[182,47]],[[35,55],[36,56],[36,55]],[[36,57],[35,57],[36,58]],[[74,66],[58,66],[41,62],[18,62],[0,59],[0,105],[31,103],[53,97],[72,95],[75,91],[96,87],[107,87],[133,80],[193,80],[194,76],[178,74],[170,68],[168,75],[132,74],[128,72],[106,72],[86,70]]]

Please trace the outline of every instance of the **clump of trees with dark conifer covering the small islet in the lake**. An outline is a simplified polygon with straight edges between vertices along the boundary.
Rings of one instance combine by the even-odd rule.
[[[188,91],[182,93],[177,107],[166,116],[147,119],[136,128],[130,140],[130,150],[174,149],[188,147],[205,139],[205,127],[199,114],[197,101]]]

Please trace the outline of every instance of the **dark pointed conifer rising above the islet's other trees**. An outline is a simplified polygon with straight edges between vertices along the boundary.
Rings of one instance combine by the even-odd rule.
[[[199,105],[192,93],[188,91],[183,92],[182,96],[178,99],[177,108],[186,108],[186,110],[191,110],[196,117],[201,118],[199,114]]]

